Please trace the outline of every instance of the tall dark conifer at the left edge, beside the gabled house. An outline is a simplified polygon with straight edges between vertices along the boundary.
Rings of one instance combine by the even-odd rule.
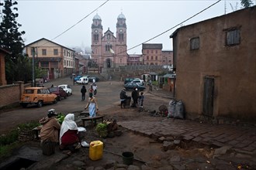
[[[12,53],[5,56],[5,79],[8,83],[22,80],[19,77],[19,73],[24,73],[22,67],[26,66],[26,63],[20,62],[28,61],[28,59],[23,59],[25,56],[22,55],[22,50],[24,49],[22,35],[25,32],[19,32],[19,28],[22,25],[16,22],[19,14],[16,13],[18,8],[14,6],[17,4],[17,2],[12,2],[12,0],[5,0],[4,3],[0,3],[0,6],[3,6],[2,22],[0,23],[0,45]],[[20,66],[22,67],[20,68]]]

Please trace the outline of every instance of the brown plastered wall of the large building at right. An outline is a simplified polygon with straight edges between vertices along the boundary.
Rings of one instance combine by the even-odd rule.
[[[227,46],[227,30],[240,28],[240,44]],[[214,79],[213,117],[256,118],[256,8],[243,9],[177,30],[176,97],[199,116],[204,77]],[[199,49],[190,39],[199,37]]]

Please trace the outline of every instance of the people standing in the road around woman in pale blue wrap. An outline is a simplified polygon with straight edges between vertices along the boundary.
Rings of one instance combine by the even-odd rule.
[[[95,83],[91,84],[89,89],[88,89],[88,93],[89,93],[89,97],[88,97],[88,102],[85,106],[85,110],[88,108],[89,111],[89,116],[90,117],[95,117],[96,113],[99,110],[98,107],[98,100],[96,98],[96,94],[97,94],[97,85]],[[85,85],[83,85],[81,87],[81,100],[85,101],[85,93],[87,92]]]

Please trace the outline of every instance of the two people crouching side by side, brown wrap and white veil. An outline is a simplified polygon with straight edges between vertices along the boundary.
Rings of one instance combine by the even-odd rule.
[[[61,150],[66,150],[65,153],[71,155],[78,148],[81,148],[81,139],[78,138],[78,125],[74,121],[74,114],[67,114],[62,124],[56,117],[55,110],[50,109],[47,117],[40,120],[40,124],[43,125],[40,130],[41,145],[45,142],[59,144]]]

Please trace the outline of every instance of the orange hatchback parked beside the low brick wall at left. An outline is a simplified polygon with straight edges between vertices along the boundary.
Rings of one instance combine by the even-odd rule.
[[[37,107],[42,107],[43,104],[57,104],[57,95],[50,93],[46,87],[26,87],[19,104],[22,107],[27,107],[28,104],[36,104]]]

